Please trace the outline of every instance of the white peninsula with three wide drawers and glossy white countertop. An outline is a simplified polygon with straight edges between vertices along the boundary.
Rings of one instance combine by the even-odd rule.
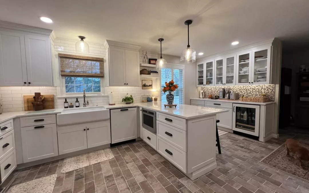
[[[104,105],[104,107],[111,110],[112,131],[113,111],[117,111],[118,118],[121,113],[124,115],[127,113],[125,116],[128,116],[129,111],[137,107],[140,115],[140,137],[190,179],[196,179],[217,167],[216,114],[227,110],[182,104],[169,108],[164,107],[161,102]],[[156,112],[156,133],[142,127],[142,109]],[[131,114],[133,112],[131,111]],[[115,125],[119,127],[120,124]]]

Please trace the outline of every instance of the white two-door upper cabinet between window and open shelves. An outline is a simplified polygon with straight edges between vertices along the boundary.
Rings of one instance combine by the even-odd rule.
[[[106,40],[107,86],[139,86],[140,46]]]

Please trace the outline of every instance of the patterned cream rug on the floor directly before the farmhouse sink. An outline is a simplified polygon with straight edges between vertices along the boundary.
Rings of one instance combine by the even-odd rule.
[[[63,160],[61,173],[73,171],[112,158],[114,158],[114,155],[110,148],[100,149],[72,157],[67,157]]]

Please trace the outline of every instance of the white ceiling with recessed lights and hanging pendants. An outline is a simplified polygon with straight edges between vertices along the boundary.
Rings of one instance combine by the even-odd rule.
[[[179,56],[190,45],[204,56],[273,37],[309,40],[308,0],[0,0],[0,20],[54,30],[57,37],[105,40]],[[46,16],[54,23],[41,22]],[[237,46],[231,42],[239,41]]]

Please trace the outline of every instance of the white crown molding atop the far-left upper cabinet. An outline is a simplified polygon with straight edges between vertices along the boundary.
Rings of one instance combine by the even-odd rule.
[[[0,27],[19,30],[19,31],[27,31],[27,32],[37,33],[37,34],[42,34],[42,35],[47,35],[47,36],[50,36],[50,34],[53,31],[50,29],[44,29],[40,27],[33,27],[33,26],[28,26],[28,25],[23,25],[23,24],[18,24],[18,23],[11,23],[11,22],[6,22],[6,21],[0,21]]]

